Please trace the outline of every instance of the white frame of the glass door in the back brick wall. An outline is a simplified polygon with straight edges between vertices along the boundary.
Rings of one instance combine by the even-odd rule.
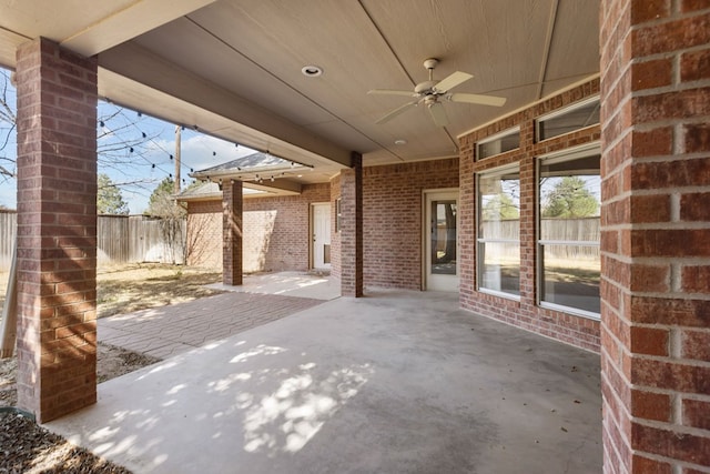
[[[432,273],[432,202],[433,201],[456,201],[456,254],[457,254],[457,264],[456,264],[456,274],[435,274]],[[458,265],[458,255],[459,255],[459,190],[458,188],[445,188],[445,189],[432,189],[423,191],[423,212],[422,212],[422,282],[423,289],[427,291],[458,291],[459,284],[459,265]]]

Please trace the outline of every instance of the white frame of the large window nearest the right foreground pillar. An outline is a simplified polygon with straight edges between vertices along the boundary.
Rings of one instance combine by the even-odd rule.
[[[601,154],[601,142],[595,141],[592,143],[587,143],[580,147],[566,149],[562,151],[556,151],[554,153],[542,154],[536,158],[535,165],[535,180],[536,180],[536,191],[535,191],[535,213],[536,213],[536,225],[535,225],[535,276],[536,276],[536,303],[539,307],[559,311],[566,314],[572,314],[576,316],[586,317],[594,321],[601,320],[601,313],[595,313],[587,310],[581,310],[579,307],[566,306],[559,303],[550,303],[548,301],[542,300],[542,285],[545,284],[545,260],[544,260],[544,246],[550,244],[559,244],[559,245],[579,245],[579,241],[556,241],[556,240],[542,240],[541,231],[542,231],[542,213],[541,213],[541,201],[540,201],[540,168],[542,163],[545,164],[556,164],[564,163],[566,161],[574,161],[581,158],[587,158],[595,154]],[[599,190],[601,192],[601,190]],[[600,200],[601,201],[601,200]],[[601,202],[599,202],[601,205]],[[601,211],[600,211],[601,212]],[[601,219],[601,216],[599,216]],[[597,243],[590,243],[591,241],[585,242],[582,245],[588,246],[598,246],[601,248],[601,240],[597,241]],[[601,255],[599,256],[601,264]],[[601,299],[601,295],[599,296]]]

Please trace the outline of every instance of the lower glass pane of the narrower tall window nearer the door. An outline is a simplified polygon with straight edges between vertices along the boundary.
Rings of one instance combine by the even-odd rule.
[[[507,242],[483,242],[480,253],[479,288],[520,294],[520,245]]]

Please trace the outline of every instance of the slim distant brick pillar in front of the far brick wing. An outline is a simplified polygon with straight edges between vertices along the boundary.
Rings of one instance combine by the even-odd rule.
[[[222,184],[222,282],[242,284],[242,182]]]

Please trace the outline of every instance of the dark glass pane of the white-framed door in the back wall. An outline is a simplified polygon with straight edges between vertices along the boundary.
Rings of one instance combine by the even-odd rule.
[[[456,201],[432,201],[432,273],[456,274]]]

